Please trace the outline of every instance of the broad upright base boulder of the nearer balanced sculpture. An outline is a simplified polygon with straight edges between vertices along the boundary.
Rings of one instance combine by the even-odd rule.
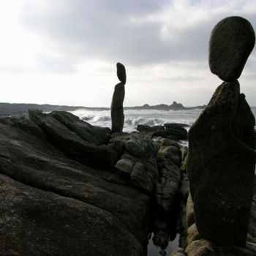
[[[255,118],[238,81],[222,83],[189,130],[189,187],[200,236],[245,246],[255,172]]]

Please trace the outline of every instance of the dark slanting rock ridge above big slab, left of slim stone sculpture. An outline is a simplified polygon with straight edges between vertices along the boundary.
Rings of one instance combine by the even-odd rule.
[[[72,159],[84,165],[104,169],[116,165],[117,154],[113,148],[107,145],[97,146],[96,143],[91,143],[92,140],[95,140],[97,143],[100,140],[105,140],[109,135],[108,129],[99,129],[102,133],[105,131],[105,135],[100,138],[99,133],[96,132],[94,137],[93,132],[89,132],[89,129],[86,131],[85,127],[87,127],[87,124],[83,124],[83,121],[78,121],[77,117],[72,114],[58,112],[45,114],[38,110],[29,110],[29,117],[31,121],[34,121],[45,132],[50,143],[64,151]],[[65,124],[61,123],[58,119]],[[73,126],[72,121],[78,123],[76,128]],[[82,132],[83,129],[84,131]],[[97,128],[95,130],[97,131]]]

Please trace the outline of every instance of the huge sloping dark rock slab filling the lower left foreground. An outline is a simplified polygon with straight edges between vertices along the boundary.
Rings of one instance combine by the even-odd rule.
[[[67,157],[49,134],[83,140],[56,114],[0,118],[0,255],[146,255],[150,197]]]

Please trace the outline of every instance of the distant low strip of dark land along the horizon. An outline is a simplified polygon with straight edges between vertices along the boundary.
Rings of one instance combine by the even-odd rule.
[[[190,109],[203,109],[206,105],[196,106],[196,107],[184,107],[181,103],[173,102],[171,105],[159,104],[159,105],[148,105],[135,106],[135,107],[125,107],[125,110],[190,110]],[[0,102],[0,116],[24,116],[29,109],[42,110],[44,112],[51,111],[75,111],[78,109],[86,110],[109,110],[110,108],[90,108],[83,106],[66,106],[66,105],[49,105],[49,104],[26,104],[26,103],[5,103]]]

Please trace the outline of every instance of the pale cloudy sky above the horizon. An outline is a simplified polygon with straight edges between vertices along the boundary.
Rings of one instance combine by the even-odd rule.
[[[233,15],[256,29],[255,0],[0,0],[0,102],[109,107],[121,62],[124,106],[207,104],[208,40]],[[256,106],[255,50],[239,82]]]

